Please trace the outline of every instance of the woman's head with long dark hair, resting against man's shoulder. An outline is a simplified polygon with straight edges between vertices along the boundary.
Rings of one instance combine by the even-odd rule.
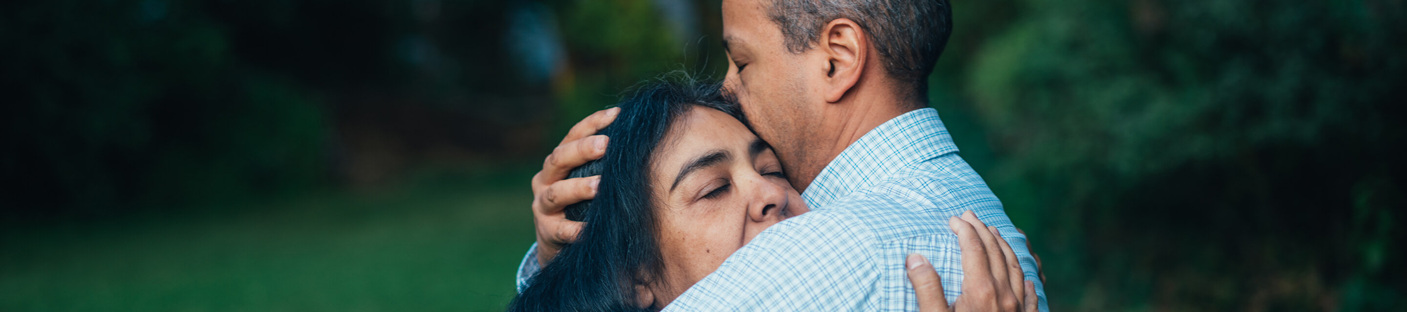
[[[758,232],[806,211],[765,142],[716,84],[654,83],[619,104],[585,221],[509,311],[653,311]],[[644,190],[644,191],[642,191]]]

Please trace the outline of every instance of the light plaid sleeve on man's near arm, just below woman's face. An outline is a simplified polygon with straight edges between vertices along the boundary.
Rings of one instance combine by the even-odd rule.
[[[664,311],[874,311],[874,233],[846,219],[812,211],[763,230]]]

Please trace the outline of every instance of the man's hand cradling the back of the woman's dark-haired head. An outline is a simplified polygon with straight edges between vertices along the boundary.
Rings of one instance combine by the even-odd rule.
[[[537,263],[547,264],[563,245],[577,240],[582,222],[567,219],[564,208],[597,197],[601,176],[567,178],[571,169],[606,153],[605,135],[595,135],[615,121],[619,107],[597,111],[571,126],[567,138],[547,155],[532,177],[532,221],[537,230]]]

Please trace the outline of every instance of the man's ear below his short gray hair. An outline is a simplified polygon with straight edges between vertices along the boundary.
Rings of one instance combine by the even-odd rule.
[[[855,87],[870,58],[870,41],[860,24],[836,18],[822,28],[820,52],[826,55],[826,103],[837,103]]]

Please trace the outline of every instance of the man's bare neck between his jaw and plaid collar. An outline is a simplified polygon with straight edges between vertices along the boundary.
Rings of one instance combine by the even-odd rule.
[[[798,146],[805,148],[799,152],[806,155],[802,166],[792,169],[792,174],[789,174],[792,176],[792,187],[798,191],[805,191],[836,156],[840,156],[846,148],[850,148],[870,131],[905,112],[927,107],[922,98],[900,98],[892,93],[854,96],[854,98],[830,104],[830,110],[822,114],[820,125],[834,126],[822,126],[823,131],[808,141],[809,146]]]

